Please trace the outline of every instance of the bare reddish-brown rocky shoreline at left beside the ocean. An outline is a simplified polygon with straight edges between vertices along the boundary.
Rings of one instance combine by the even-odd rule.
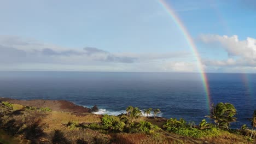
[[[13,104],[20,104],[24,106],[33,106],[37,108],[41,107],[49,107],[53,111],[63,111],[63,112],[72,112],[72,113],[91,113],[97,112],[98,108],[95,105],[92,108],[83,107],[79,105],[75,105],[71,101],[67,100],[18,100],[18,99],[10,99],[10,98],[0,98],[1,101],[8,101]]]

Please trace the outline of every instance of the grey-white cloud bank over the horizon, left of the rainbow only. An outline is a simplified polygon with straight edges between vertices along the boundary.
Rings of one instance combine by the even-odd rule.
[[[194,71],[191,62],[173,61],[187,57],[191,57],[189,51],[112,53],[96,47],[68,48],[0,35],[0,70]]]

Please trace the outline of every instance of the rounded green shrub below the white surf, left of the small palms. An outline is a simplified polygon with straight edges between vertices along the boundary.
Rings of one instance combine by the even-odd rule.
[[[125,127],[125,123],[121,122],[119,117],[108,116],[108,115],[104,115],[102,117],[102,128],[103,129],[123,131],[124,127]]]

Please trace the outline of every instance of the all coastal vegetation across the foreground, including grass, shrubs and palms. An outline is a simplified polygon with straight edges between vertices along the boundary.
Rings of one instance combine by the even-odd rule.
[[[246,125],[230,129],[237,111],[229,103],[213,104],[207,116],[213,123],[202,119],[199,124],[156,117],[159,109],[149,108],[142,114],[133,106],[119,116],[75,115],[6,101],[0,107],[0,143],[255,143],[256,139],[256,110],[248,118],[251,130]]]

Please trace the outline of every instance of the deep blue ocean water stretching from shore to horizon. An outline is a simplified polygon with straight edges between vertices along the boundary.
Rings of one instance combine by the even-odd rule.
[[[256,109],[256,74],[207,73],[212,103],[232,103],[233,128]],[[118,115],[129,105],[161,110],[159,116],[198,124],[209,114],[208,98],[198,73],[0,72],[0,97],[69,100],[99,113]],[[210,121],[210,120],[208,120]]]

